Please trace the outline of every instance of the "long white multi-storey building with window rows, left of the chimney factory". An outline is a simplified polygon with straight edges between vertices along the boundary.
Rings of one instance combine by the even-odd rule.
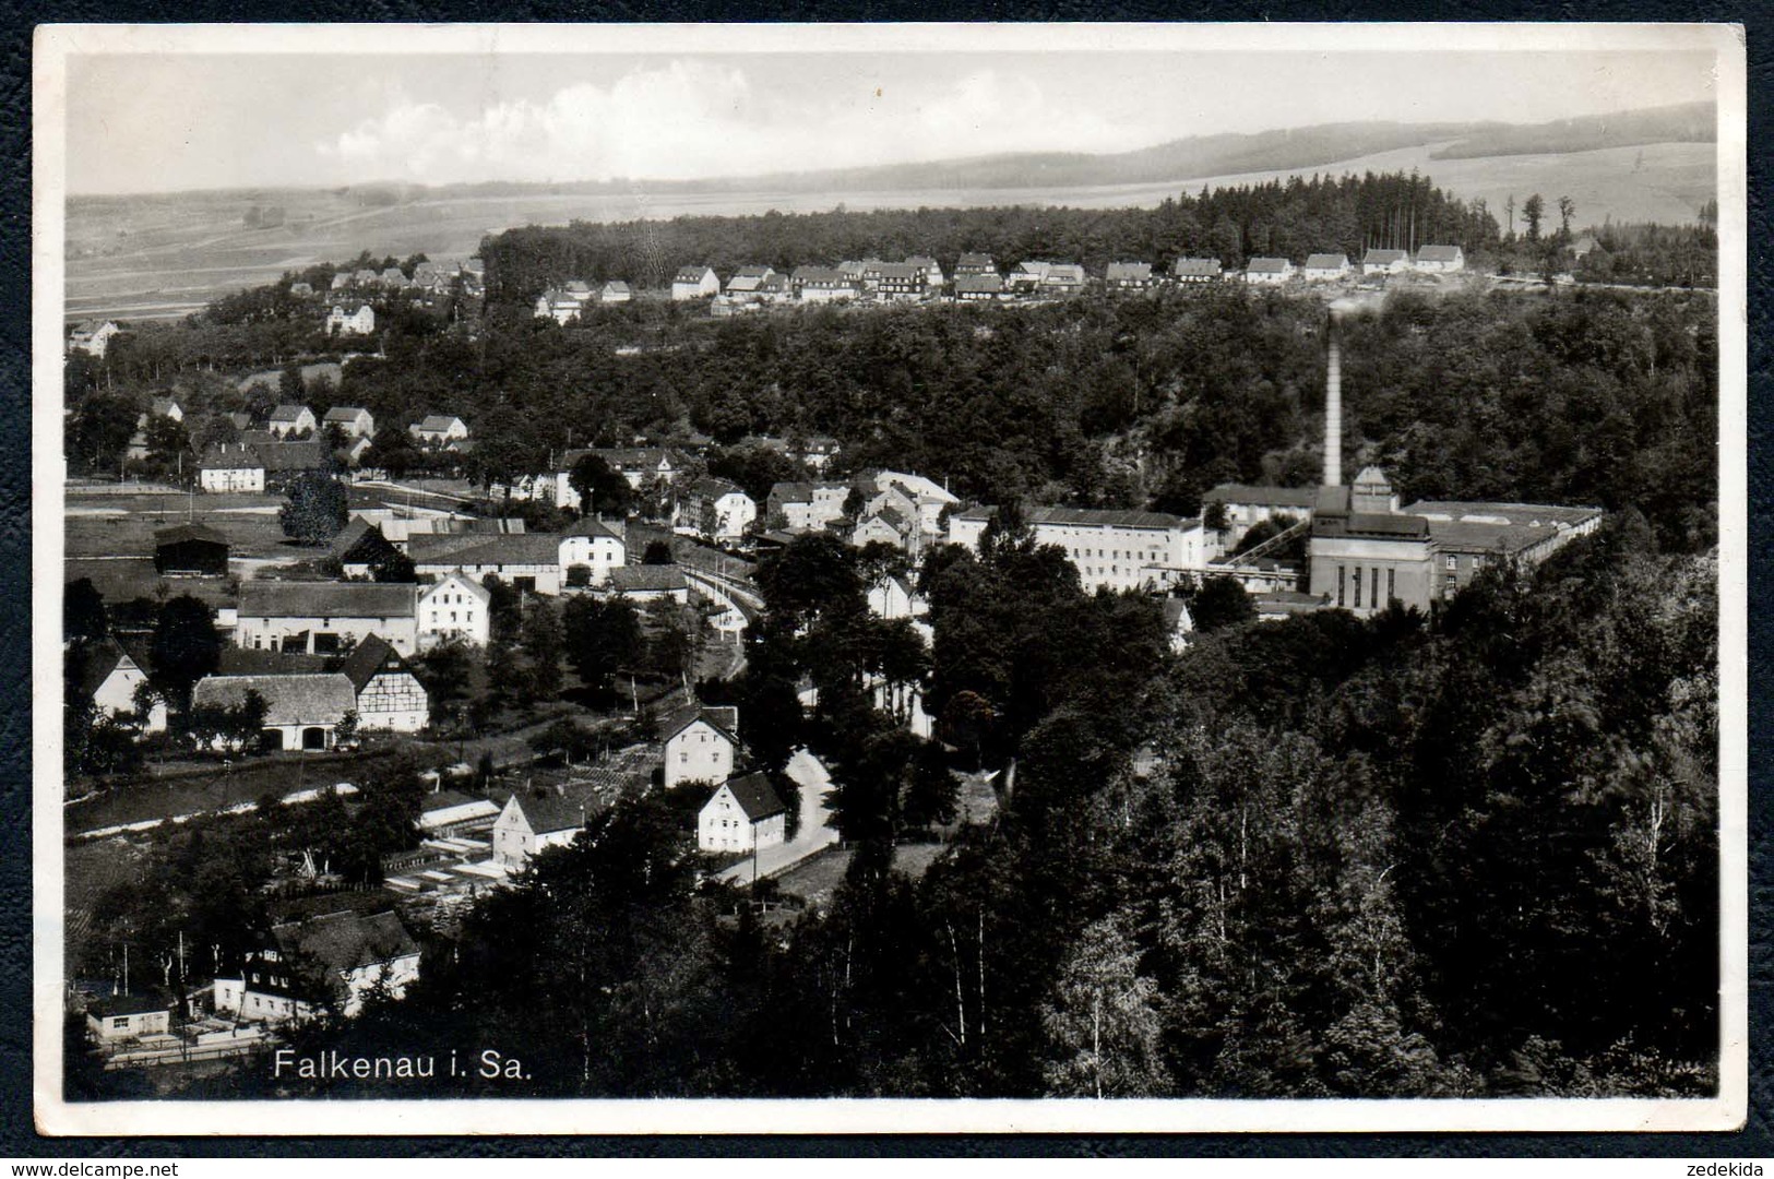
[[[972,507],[949,518],[949,541],[979,551],[995,509]],[[1181,573],[1206,566],[1201,521],[1167,512],[1089,507],[1032,507],[1024,514],[1036,544],[1057,544],[1079,571],[1086,594],[1167,589]]]

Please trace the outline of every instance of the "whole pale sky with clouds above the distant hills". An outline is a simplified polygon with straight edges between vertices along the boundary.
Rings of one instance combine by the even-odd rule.
[[[1712,90],[1708,51],[1669,50],[76,51],[66,179],[80,195],[697,179],[1322,122],[1543,122]]]

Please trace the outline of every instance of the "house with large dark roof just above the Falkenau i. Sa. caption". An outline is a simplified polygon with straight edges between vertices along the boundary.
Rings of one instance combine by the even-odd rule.
[[[417,979],[419,943],[394,911],[326,913],[273,925],[238,977],[216,979],[215,1007],[248,1023],[349,1019],[378,988],[401,998]]]

